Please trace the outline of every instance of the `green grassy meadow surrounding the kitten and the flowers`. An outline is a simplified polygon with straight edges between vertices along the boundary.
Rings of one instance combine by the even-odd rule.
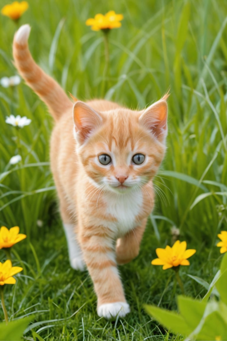
[[[2,0],[1,6],[7,3]],[[75,97],[83,101],[104,97],[142,109],[168,89],[171,95],[167,151],[154,181],[155,209],[140,255],[119,267],[131,313],[106,321],[96,313],[88,273],[69,266],[49,168],[52,118],[23,81],[15,87],[0,86],[0,226],[18,225],[27,235],[12,250],[14,265],[23,271],[16,284],[5,285],[9,320],[32,316],[24,340],[182,340],[147,314],[144,304],[177,309],[181,291],[174,272],[151,265],[156,248],[171,245],[174,238],[196,249],[190,266],[180,268],[187,296],[202,299],[207,292],[202,280],[210,283],[221,263],[216,244],[217,234],[227,230],[226,4],[221,0],[28,3],[18,23],[0,16],[0,78],[16,74],[13,35],[19,25],[28,23],[34,59]],[[103,34],[92,31],[85,21],[109,10],[123,14],[124,20],[122,27],[109,32],[109,74],[103,90]],[[5,122],[10,114],[26,116],[31,124],[17,130]],[[16,154],[22,161],[11,165]],[[173,227],[179,235],[174,235]],[[4,260],[0,250],[0,262]]]

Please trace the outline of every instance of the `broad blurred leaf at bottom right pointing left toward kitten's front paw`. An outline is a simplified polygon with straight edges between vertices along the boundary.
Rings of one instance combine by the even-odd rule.
[[[193,328],[191,328],[184,320],[184,318],[173,311],[168,311],[155,306],[144,305],[145,310],[152,317],[160,322],[164,327],[171,329],[174,333],[180,333],[184,336],[189,335]]]

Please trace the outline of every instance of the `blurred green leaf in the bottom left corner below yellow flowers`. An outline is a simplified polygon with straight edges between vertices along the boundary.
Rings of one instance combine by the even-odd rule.
[[[33,317],[25,317],[9,322],[7,325],[0,323],[0,341],[21,341],[23,332]]]

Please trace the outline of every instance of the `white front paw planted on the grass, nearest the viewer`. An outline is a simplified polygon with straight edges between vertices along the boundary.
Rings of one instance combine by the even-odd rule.
[[[126,314],[130,312],[130,308],[128,303],[126,302],[114,302],[114,303],[106,303],[102,304],[97,308],[97,313],[99,317],[112,318],[116,317],[124,317]]]

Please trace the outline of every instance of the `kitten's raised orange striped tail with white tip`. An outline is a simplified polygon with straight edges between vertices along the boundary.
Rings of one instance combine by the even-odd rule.
[[[62,113],[72,108],[72,102],[60,85],[34,62],[29,48],[30,26],[23,25],[14,35],[13,57],[19,74],[48,106],[51,115],[58,120]]]

